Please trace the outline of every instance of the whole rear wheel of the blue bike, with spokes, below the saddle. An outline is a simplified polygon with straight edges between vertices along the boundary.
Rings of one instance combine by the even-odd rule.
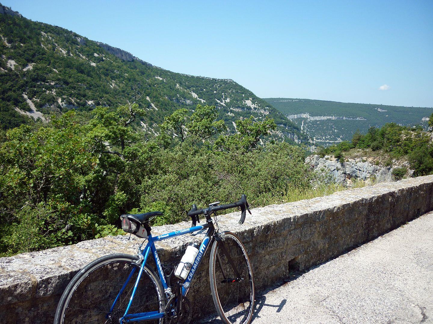
[[[55,324],[119,323],[125,313],[140,266],[137,257],[111,254],[87,264],[66,287]],[[128,314],[164,312],[164,289],[155,272],[144,267]],[[163,318],[146,323],[162,324]]]

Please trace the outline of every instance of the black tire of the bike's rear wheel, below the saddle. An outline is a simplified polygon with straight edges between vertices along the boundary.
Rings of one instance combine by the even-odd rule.
[[[126,260],[126,261],[136,261],[139,260],[138,257],[134,256],[134,255],[130,255],[130,254],[108,254],[105,255],[103,257],[100,257],[92,262],[90,262],[89,264],[87,264],[86,266],[84,266],[80,271],[78,271],[78,273],[72,278],[72,280],[69,282],[68,286],[65,288],[65,291],[63,292],[63,294],[61,295],[61,298],[58,302],[57,305],[57,309],[55,312],[55,316],[54,316],[54,324],[62,324],[64,318],[64,314],[63,314],[63,310],[65,308],[65,303],[68,300],[68,297],[71,295],[71,290],[74,288],[75,284],[78,283],[78,281],[81,279],[82,276],[87,275],[89,273],[91,273],[90,270],[92,269],[97,269],[97,265],[104,263],[107,260]],[[161,306],[161,310],[160,311],[164,311],[165,308],[165,293],[164,293],[164,288],[162,287],[162,283],[161,280],[159,279],[159,276],[155,273],[155,271],[150,268],[145,266],[143,269],[143,272],[147,273],[151,278],[152,276],[154,277],[152,280],[153,283],[156,283],[156,289],[157,292],[161,295],[161,301],[162,301],[162,306]],[[67,305],[66,305],[67,306]],[[62,316],[63,315],[63,316]],[[164,318],[161,318],[161,320],[159,321],[160,324],[162,324],[164,322]]]

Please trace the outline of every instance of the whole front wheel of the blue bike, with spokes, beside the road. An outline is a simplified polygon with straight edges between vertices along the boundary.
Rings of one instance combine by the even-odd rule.
[[[245,247],[234,233],[224,232],[221,237],[221,240],[213,242],[210,252],[209,276],[213,302],[225,323],[248,324],[254,310],[251,264]]]

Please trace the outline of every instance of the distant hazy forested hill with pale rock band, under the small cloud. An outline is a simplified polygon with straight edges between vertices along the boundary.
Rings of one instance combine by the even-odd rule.
[[[427,128],[433,108],[370,105],[299,98],[264,98],[306,132],[316,144],[350,140],[356,130],[386,123]]]

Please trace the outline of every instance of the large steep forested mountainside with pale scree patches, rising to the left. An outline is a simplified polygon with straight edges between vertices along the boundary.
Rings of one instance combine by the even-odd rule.
[[[4,6],[0,13],[3,129],[48,118],[52,111],[116,107],[137,87],[147,111],[137,127],[149,133],[157,134],[157,125],[174,110],[202,104],[216,105],[232,130],[241,117],[268,116],[278,124],[280,138],[307,142],[296,124],[231,79],[174,73],[61,27],[33,22]]]

